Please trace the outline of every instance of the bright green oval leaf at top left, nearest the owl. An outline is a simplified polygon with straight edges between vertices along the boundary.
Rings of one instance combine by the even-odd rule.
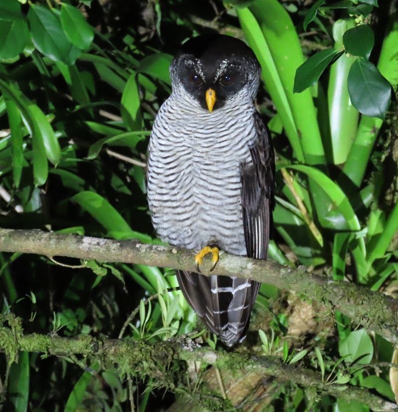
[[[93,42],[94,31],[81,11],[70,4],[62,3],[60,19],[68,40],[81,50],[88,49]]]

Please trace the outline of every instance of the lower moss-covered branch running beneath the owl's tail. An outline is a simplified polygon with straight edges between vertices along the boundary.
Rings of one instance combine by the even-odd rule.
[[[281,381],[294,382],[305,388],[314,388],[320,394],[329,394],[347,401],[356,400],[374,411],[398,411],[396,404],[366,389],[322,382],[318,372],[288,365],[277,357],[215,352],[208,348],[184,346],[179,340],[148,344],[134,339],[102,340],[90,336],[66,338],[35,333],[24,335],[20,325],[20,320],[12,315],[0,316],[1,347],[14,354],[17,350],[22,350],[61,357],[82,355],[85,359],[100,362],[102,367],[117,363],[122,373],[143,379],[149,376],[155,378],[159,385],[171,389],[175,382],[175,372],[171,366],[174,361],[200,361],[214,365],[221,371],[234,371],[236,379],[239,375],[256,372],[262,376],[271,375]]]

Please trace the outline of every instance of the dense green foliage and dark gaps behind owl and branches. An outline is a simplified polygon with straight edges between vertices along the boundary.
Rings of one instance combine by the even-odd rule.
[[[396,293],[395,1],[21,3],[0,0],[1,227],[159,243],[145,162],[171,92],[168,65],[187,38],[221,32],[245,39],[263,66],[257,105],[278,163],[271,258]],[[189,334],[223,350],[208,332],[197,336],[172,270],[1,253],[0,277],[2,313],[21,318],[24,333],[151,343]],[[300,362],[325,382],[394,401],[393,346],[356,327],[263,285],[247,346],[235,350]],[[225,403],[206,365],[176,362],[172,379],[156,381],[71,354],[13,360],[4,348],[4,411],[166,411],[176,394],[200,410],[369,410],[296,384]]]

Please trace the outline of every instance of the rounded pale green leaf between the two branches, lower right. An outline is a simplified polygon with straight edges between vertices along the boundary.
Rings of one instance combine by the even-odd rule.
[[[373,357],[373,343],[366,329],[354,330],[347,339],[340,341],[339,353],[340,356],[347,356],[345,359],[347,362],[370,363]]]

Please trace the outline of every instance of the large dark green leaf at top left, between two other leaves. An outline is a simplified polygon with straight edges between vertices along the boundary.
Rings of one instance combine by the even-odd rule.
[[[75,63],[81,51],[65,36],[58,16],[47,8],[32,4],[27,17],[33,44],[41,53],[67,65]]]

